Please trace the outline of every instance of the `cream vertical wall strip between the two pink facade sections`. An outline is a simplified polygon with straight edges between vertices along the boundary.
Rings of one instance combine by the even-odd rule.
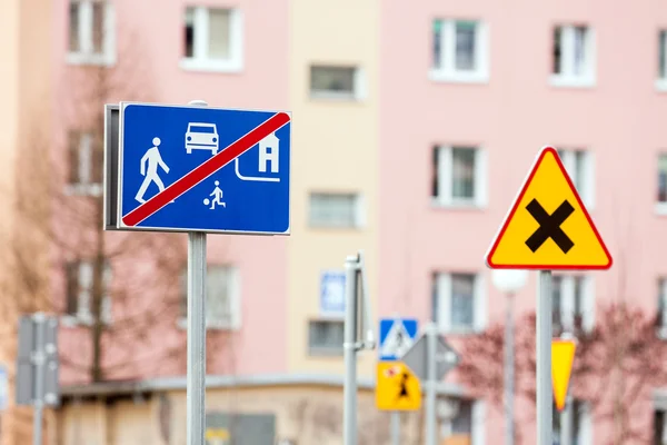
[[[289,239],[288,372],[342,373],[342,356],[308,356],[308,320],[319,314],[322,269],[342,268],[347,255],[365,249],[372,316],[377,319],[378,27],[379,0],[290,3],[290,109],[292,135],[292,235]],[[310,65],[357,66],[361,100],[311,99]],[[358,191],[359,229],[308,227],[310,191]],[[370,376],[375,353],[360,356]]]

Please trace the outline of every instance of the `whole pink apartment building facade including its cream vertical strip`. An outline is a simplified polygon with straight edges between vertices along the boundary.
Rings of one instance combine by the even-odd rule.
[[[505,297],[492,287],[484,256],[545,145],[563,150],[561,158],[615,257],[610,271],[557,279],[558,323],[568,325],[581,315],[593,326],[599,303],[615,298],[630,299],[651,313],[667,307],[660,303],[667,299],[663,290],[667,267],[657,260],[667,241],[660,230],[667,215],[667,141],[659,123],[667,111],[663,109],[667,58],[660,33],[667,29],[667,8],[657,3],[609,8],[600,1],[537,7],[521,1],[500,6],[490,0],[457,4],[428,0],[409,7],[376,1],[361,13],[355,10],[356,2],[344,2],[339,9],[347,8],[347,14],[341,13],[341,20],[362,16],[369,24],[350,18],[347,24],[359,33],[357,43],[339,39],[338,44],[334,38],[309,37],[322,12],[301,0],[56,3],[51,61],[58,87],[51,108],[57,146],[70,150],[60,179],[73,200],[101,192],[93,131],[80,123],[86,121],[82,116],[91,115],[87,105],[99,112],[103,103],[127,99],[167,103],[203,99],[218,107],[297,109],[308,122],[299,127],[295,113],[295,165],[302,170],[293,174],[299,207],[293,214],[299,219],[292,226],[302,233],[296,230],[291,239],[209,237],[211,287],[218,289],[212,294],[227,308],[211,319],[223,334],[211,329],[211,337],[221,343],[209,346],[210,374],[339,376],[342,357],[328,350],[327,342],[337,342],[342,323],[327,318],[328,327],[313,328],[322,323],[311,314],[317,312],[311,307],[317,306],[312,300],[319,279],[313,270],[337,267],[358,247],[365,247],[374,261],[376,319],[394,314],[416,316],[421,323],[434,319],[454,343],[498,322]],[[349,66],[355,68],[348,76]],[[122,69],[118,76],[91,81],[90,67]],[[331,67],[340,69],[327,71]],[[318,69],[325,75],[313,81]],[[344,86],[332,87],[336,81],[327,76],[342,79]],[[319,96],[313,95],[313,85]],[[81,91],[92,96],[82,100]],[[322,97],[332,102],[322,105]],[[321,140],[331,120],[352,136],[337,130]],[[350,156],[359,152],[359,164],[348,168],[331,161],[331,168],[322,168],[325,151],[339,148]],[[356,194],[351,205],[339,199],[348,194]],[[364,216],[350,217],[356,221],[349,227],[313,229],[312,195],[322,206],[321,220],[336,212],[331,219],[345,220],[348,211]],[[327,199],[339,200],[325,208]],[[80,243],[90,240],[79,235]],[[107,235],[112,247],[128,239]],[[185,236],[171,239],[185,247]],[[90,319],[94,270],[91,258],[82,254],[56,251],[54,264],[66,273],[58,273],[52,284],[57,306],[67,313],[63,354],[84,356],[86,362],[92,352],[82,325]],[[123,274],[126,279],[147,279],[151,268],[146,265],[157,266],[159,256],[143,258],[143,266],[137,267],[128,267],[127,258],[111,260],[106,275],[109,293],[142,301],[145,313],[155,313],[156,329],[146,338],[128,334],[112,343],[104,357],[106,377],[182,375],[182,359],[166,365],[150,355],[113,367],[129,344],[137,346],[137,354],[179,345],[182,353],[185,346],[182,310],[150,308],[180,298],[178,273],[169,288],[117,285],[113,277]],[[517,298],[519,314],[534,309],[535,288],[531,276]],[[104,306],[110,325],[128,318],[130,306],[111,298]],[[317,349],[311,343],[318,335],[325,337],[326,347],[319,347],[320,355],[306,353],[307,345]],[[361,377],[369,378],[372,359],[360,362]],[[88,380],[86,370],[67,366],[62,377],[63,384]],[[456,382],[457,376],[447,379]],[[645,408],[633,415],[645,422],[649,434],[654,405],[651,394],[644,396]],[[656,397],[656,404],[667,408],[667,397]],[[526,443],[535,434],[531,409],[517,406],[526,413],[520,428]],[[441,421],[444,439],[464,436],[481,445],[501,437],[499,407],[470,397],[460,400],[458,412],[456,418]],[[610,425],[597,423],[585,404],[576,416],[578,444],[606,443]]]

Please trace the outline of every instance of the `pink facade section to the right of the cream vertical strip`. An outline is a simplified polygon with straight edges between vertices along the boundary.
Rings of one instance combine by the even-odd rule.
[[[609,271],[557,274],[555,320],[593,326],[615,299],[664,307],[667,9],[478,0],[381,14],[381,314],[432,318],[452,340],[501,320],[505,297],[484,257],[546,145],[563,150],[615,257]],[[535,308],[535,278],[519,313]],[[651,394],[641,397],[631,416],[650,437]],[[494,443],[501,411],[486,413]],[[613,429],[584,405],[576,443],[608,443]]]

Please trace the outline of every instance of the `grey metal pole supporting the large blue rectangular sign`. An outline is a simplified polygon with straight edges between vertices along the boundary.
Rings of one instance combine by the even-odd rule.
[[[207,106],[193,100],[190,105]],[[206,234],[188,233],[188,445],[205,445]]]

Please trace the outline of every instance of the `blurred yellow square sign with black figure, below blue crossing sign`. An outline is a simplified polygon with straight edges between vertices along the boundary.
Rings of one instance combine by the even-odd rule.
[[[416,411],[421,407],[421,385],[400,362],[378,362],[376,407],[382,411]]]

